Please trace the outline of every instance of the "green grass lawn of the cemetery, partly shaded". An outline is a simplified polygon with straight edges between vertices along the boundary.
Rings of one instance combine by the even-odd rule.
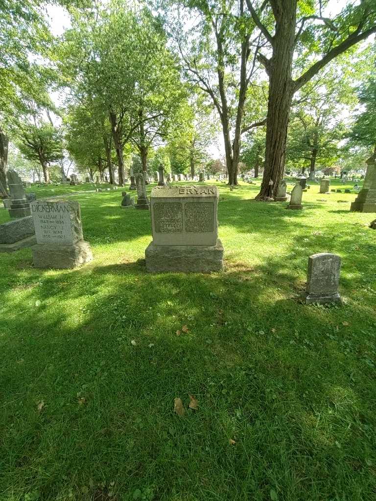
[[[74,196],[85,267],[0,255],[2,501],[374,499],[375,216],[259,184],[218,183],[222,273],[146,273],[150,212],[121,188]],[[342,259],[341,307],[298,298],[318,252]]]

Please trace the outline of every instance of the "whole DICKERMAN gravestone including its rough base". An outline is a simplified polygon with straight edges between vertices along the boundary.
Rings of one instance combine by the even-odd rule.
[[[72,200],[31,202],[37,244],[32,247],[36,268],[71,269],[93,259],[82,234],[80,204]]]

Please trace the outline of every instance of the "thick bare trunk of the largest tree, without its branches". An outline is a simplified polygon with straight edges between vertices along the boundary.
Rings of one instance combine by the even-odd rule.
[[[269,199],[270,181],[273,192],[283,177],[286,156],[287,126],[294,94],[292,58],[294,54],[297,0],[273,3],[277,20],[273,55],[266,65],[269,74],[268,116],[266,121],[265,170],[257,200]]]

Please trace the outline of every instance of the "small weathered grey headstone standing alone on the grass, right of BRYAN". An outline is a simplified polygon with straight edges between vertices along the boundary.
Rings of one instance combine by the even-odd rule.
[[[302,293],[307,305],[312,303],[341,303],[338,293],[341,258],[335,254],[319,253],[308,258],[306,290]]]

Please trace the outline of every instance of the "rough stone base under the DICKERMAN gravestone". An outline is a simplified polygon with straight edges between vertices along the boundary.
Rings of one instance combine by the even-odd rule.
[[[69,245],[37,243],[32,252],[35,268],[72,269],[93,259],[90,243],[85,240]]]

